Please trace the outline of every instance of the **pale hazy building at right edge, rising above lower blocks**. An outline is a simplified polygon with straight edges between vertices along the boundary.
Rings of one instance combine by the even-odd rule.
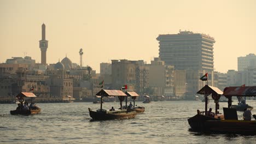
[[[255,67],[256,67],[256,56],[253,53],[250,53],[245,57],[237,58],[238,71],[244,71],[247,68],[255,68]]]

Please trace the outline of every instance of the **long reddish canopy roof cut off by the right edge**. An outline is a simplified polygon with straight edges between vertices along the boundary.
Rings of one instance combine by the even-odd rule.
[[[256,86],[252,87],[226,87],[224,93],[226,97],[240,96],[240,97],[253,97],[256,96]]]

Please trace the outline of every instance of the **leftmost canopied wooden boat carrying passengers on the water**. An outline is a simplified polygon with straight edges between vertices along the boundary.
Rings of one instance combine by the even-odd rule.
[[[21,92],[16,97],[18,98],[20,103],[18,104],[18,107],[16,110],[10,111],[11,115],[31,115],[31,114],[40,113],[41,109],[38,106],[34,106],[30,110],[22,109],[24,99],[31,98],[31,103],[32,103],[32,98],[36,98],[37,97],[36,95],[34,95],[33,93],[30,93],[30,92]],[[21,105],[21,106],[19,106],[19,105]]]

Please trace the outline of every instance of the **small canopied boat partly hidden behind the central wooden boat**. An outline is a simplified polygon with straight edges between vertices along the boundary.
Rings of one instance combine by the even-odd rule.
[[[125,94],[128,97],[131,97],[133,99],[133,107],[127,106],[127,97],[125,97],[125,109],[127,109],[127,111],[136,111],[137,113],[142,113],[145,111],[145,107],[144,106],[135,106],[135,99],[137,97],[139,97],[139,95],[136,92],[125,92]]]

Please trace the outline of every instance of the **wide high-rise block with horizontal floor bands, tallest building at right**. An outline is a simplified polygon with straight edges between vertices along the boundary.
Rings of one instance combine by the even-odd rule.
[[[213,70],[214,38],[200,33],[180,31],[160,34],[159,57],[175,69]]]

